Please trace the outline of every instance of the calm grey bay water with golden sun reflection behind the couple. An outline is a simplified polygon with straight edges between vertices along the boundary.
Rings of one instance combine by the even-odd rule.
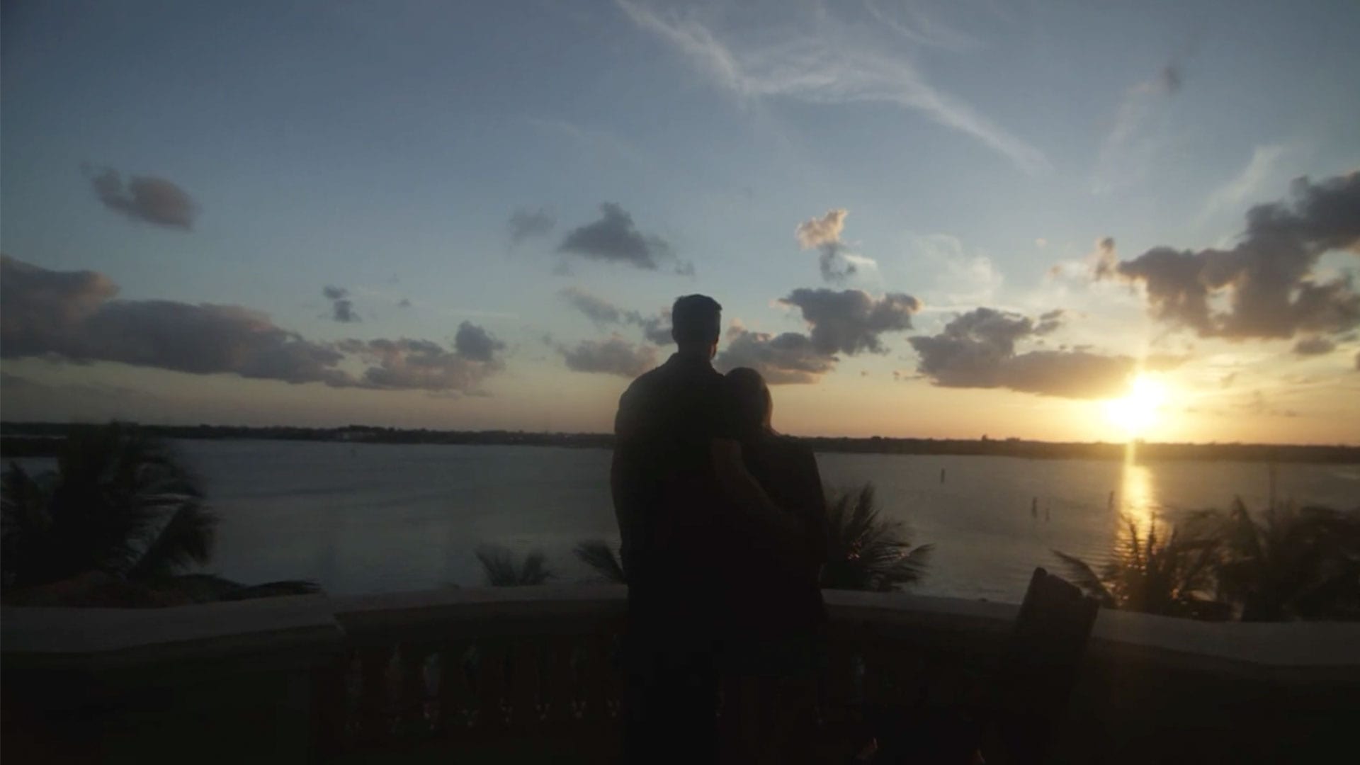
[[[469,587],[481,581],[473,551],[484,543],[543,549],[556,580],[575,581],[592,576],[571,553],[578,542],[617,542],[602,449],[178,446],[222,517],[208,570],[243,583],[310,579],[333,593]],[[1224,508],[1234,495],[1259,508],[1272,485],[1259,463],[849,453],[819,455],[817,463],[828,487],[873,481],[883,515],[906,521],[915,543],[934,544],[917,592],[1004,602],[1019,602],[1034,566],[1055,565],[1053,549],[1107,559],[1122,513],[1146,523]],[[1280,498],[1360,505],[1360,466],[1282,464],[1274,472]]]

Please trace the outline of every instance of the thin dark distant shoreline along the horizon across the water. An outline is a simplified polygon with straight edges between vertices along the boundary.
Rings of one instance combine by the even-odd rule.
[[[0,457],[53,456],[56,438],[79,425],[52,422],[0,422]],[[405,430],[398,427],[290,427],[228,425],[143,425],[143,430],[165,438],[188,440],[272,440],[332,441],[347,444],[446,444],[446,445],[513,445],[609,449],[609,433],[525,433],[518,430]],[[1020,438],[870,438],[800,437],[815,452],[849,452],[879,455],[956,455],[989,457],[1024,457],[1053,460],[1122,460],[1126,444],[1051,442]],[[1146,460],[1258,461],[1258,463],[1360,463],[1360,446],[1280,445],[1280,444],[1146,444],[1134,449]]]

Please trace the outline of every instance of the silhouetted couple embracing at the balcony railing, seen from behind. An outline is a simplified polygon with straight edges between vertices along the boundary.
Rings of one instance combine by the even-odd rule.
[[[679,350],[615,419],[613,506],[628,580],[628,762],[790,762],[806,747],[826,611],[826,500],[812,452],[771,427],[753,369],[713,369],[722,306],[670,312]],[[726,736],[724,736],[726,738]]]

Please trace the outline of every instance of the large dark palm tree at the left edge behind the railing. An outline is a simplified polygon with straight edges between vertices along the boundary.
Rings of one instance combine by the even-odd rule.
[[[216,524],[201,482],[167,442],[117,422],[76,427],[56,471],[11,463],[0,475],[5,595],[140,606],[317,591],[185,574],[212,558]]]

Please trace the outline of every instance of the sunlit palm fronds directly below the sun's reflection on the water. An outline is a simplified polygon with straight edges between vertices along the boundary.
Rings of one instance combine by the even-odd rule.
[[[1228,617],[1228,606],[1206,595],[1214,585],[1219,539],[1175,527],[1159,539],[1156,521],[1140,538],[1133,519],[1125,517],[1125,524],[1126,544],[1100,573],[1081,558],[1053,551],[1077,587],[1108,608],[1198,619]]]

